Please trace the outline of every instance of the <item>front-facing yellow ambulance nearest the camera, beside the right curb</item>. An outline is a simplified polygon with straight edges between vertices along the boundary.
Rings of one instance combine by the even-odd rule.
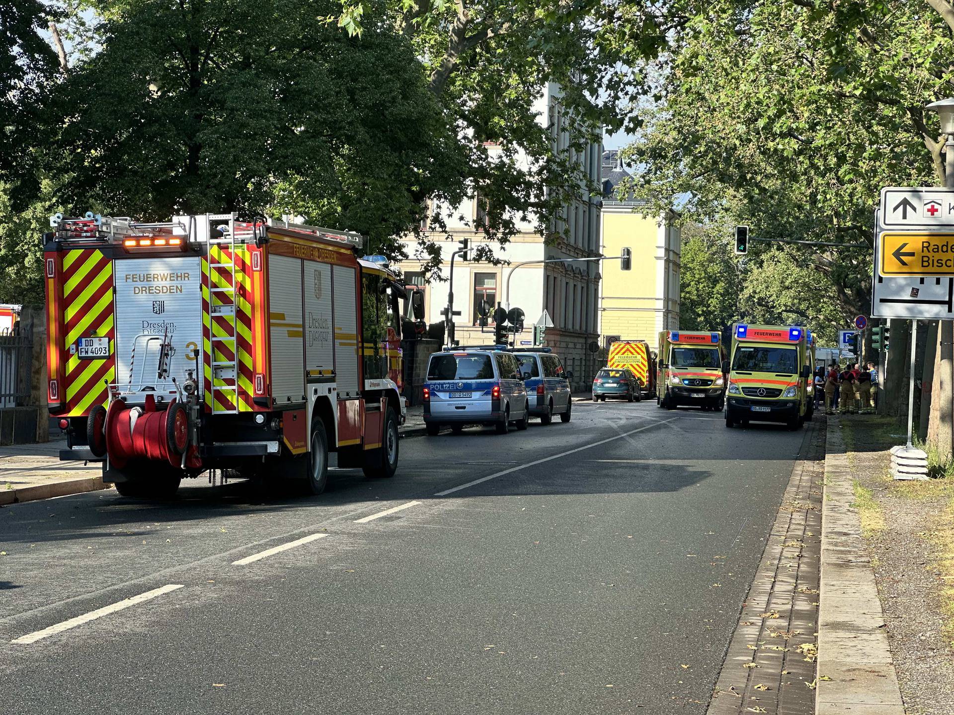
[[[812,379],[808,330],[736,323],[732,337],[725,426],[756,420],[798,429],[807,416]]]

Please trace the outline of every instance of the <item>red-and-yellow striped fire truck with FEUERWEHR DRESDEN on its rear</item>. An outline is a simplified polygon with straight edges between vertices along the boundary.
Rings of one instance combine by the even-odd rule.
[[[328,453],[391,477],[404,287],[361,235],[237,215],[51,219],[49,406],[62,460],[124,496],[237,470],[320,494]],[[233,474],[229,472],[228,474]]]

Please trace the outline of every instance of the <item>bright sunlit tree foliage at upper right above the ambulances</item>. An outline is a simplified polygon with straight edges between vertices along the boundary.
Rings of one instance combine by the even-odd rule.
[[[726,217],[763,238],[868,246],[782,254],[835,296],[840,320],[867,313],[881,187],[931,183],[939,171],[922,108],[954,89],[941,14],[900,0],[679,10],[684,31],[656,67],[659,103],[631,147],[638,190],[661,208],[688,197],[688,219]],[[758,262],[767,249],[754,245]]]

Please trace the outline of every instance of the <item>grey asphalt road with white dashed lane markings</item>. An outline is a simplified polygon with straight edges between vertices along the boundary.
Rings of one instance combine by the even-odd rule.
[[[404,439],[393,479],[318,498],[11,505],[0,712],[703,713],[802,442],[579,402]]]

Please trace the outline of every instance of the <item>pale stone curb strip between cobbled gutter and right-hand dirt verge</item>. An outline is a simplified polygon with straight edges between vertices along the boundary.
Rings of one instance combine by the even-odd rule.
[[[829,417],[827,430],[816,715],[904,715],[875,572],[851,506],[853,478],[840,420]]]

